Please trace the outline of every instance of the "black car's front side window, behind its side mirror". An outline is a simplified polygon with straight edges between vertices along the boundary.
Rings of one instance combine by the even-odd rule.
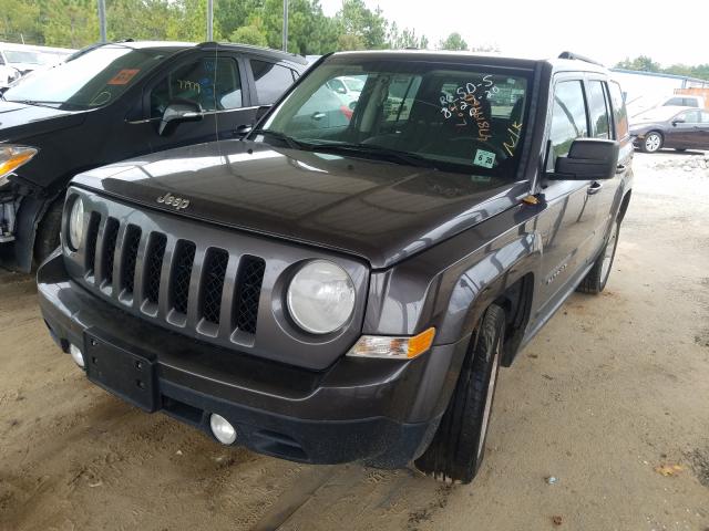
[[[203,58],[169,72],[151,91],[151,118],[161,117],[175,98],[191,100],[204,111],[242,106],[242,81],[236,61]]]

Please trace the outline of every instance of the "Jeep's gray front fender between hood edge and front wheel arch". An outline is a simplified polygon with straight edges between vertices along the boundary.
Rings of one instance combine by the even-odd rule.
[[[535,215],[534,207],[517,206],[373,272],[363,333],[413,335],[435,326],[439,345],[470,334],[507,287],[538,272],[542,239]]]

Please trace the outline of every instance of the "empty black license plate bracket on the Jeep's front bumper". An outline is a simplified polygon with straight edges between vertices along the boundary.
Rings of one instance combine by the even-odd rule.
[[[86,376],[124,400],[144,409],[157,409],[155,364],[147,357],[85,334]]]

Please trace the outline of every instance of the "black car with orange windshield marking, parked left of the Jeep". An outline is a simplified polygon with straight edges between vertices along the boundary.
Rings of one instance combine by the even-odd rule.
[[[29,271],[59,246],[74,175],[239,137],[306,66],[256,46],[115,42],[13,84],[0,97],[0,259]]]

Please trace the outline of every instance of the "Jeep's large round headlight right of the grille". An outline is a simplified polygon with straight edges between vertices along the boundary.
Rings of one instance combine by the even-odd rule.
[[[305,266],[288,287],[288,312],[306,332],[328,334],[349,321],[354,310],[354,284],[339,266],[316,260]]]

